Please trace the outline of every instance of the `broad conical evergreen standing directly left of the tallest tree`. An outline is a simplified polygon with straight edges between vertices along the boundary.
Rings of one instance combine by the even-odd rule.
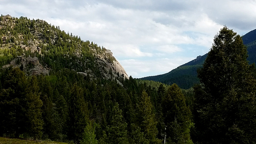
[[[190,144],[191,111],[177,84],[168,88],[163,99],[163,118],[168,143]]]

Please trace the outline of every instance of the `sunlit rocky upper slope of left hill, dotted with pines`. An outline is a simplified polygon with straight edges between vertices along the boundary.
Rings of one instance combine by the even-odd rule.
[[[83,71],[81,68],[76,69],[76,71],[83,76],[88,74],[91,79],[96,77],[96,74],[92,72],[94,71],[92,68],[95,67],[99,68],[103,78],[124,77],[129,79],[124,68],[110,50],[100,48],[97,44],[87,44],[88,41],[84,42],[80,37],[72,36],[72,33],[71,35],[66,34],[64,31],[60,31],[60,28],[55,28],[44,20],[30,20],[26,17],[18,19],[5,15],[1,16],[0,30],[2,31],[0,55],[8,55],[9,51],[10,53],[14,51],[17,52],[18,56],[17,58],[14,57],[11,62],[1,65],[2,68],[19,67],[26,71],[27,75],[39,75],[41,73],[48,75],[51,66],[46,62],[39,61],[37,57],[44,59],[45,55],[53,53],[55,56],[60,54],[65,58],[76,59],[76,63],[81,63],[81,67],[85,67],[85,64],[83,65],[81,62],[82,59],[85,63],[90,62],[94,66],[82,68]],[[36,54],[29,53],[28,55],[27,52]],[[89,59],[88,55],[92,56],[93,59]],[[54,59],[51,60],[54,61]],[[66,65],[70,65],[72,68],[74,62]]]

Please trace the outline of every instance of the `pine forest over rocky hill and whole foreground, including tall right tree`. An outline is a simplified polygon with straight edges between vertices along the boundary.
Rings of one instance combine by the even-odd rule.
[[[119,63],[110,50],[44,20],[2,15],[0,137],[256,143],[256,69],[247,57],[242,36],[224,26],[203,67],[194,66],[200,84],[181,89],[126,76],[121,66],[113,67]]]

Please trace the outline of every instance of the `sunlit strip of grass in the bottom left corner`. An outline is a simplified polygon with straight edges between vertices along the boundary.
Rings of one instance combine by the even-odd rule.
[[[57,141],[42,141],[42,140],[24,140],[0,137],[0,144],[67,144]]]

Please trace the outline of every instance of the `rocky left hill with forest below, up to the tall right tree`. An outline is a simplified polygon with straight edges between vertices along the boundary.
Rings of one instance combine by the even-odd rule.
[[[128,77],[110,50],[44,20],[0,17],[0,136],[192,143],[192,101],[192,89]]]

